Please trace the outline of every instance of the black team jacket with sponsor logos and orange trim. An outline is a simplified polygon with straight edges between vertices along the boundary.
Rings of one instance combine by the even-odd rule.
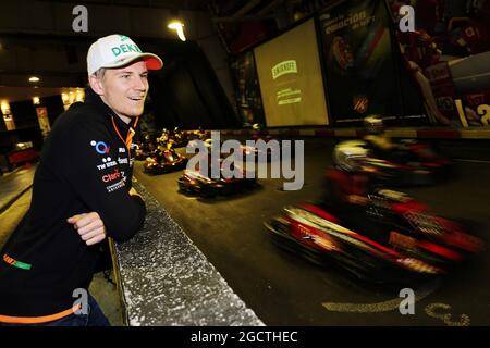
[[[146,208],[128,194],[128,132],[90,88],[84,103],[58,117],[34,176],[29,210],[1,250],[0,322],[63,312],[79,299],[75,289],[88,289],[100,246],[87,246],[66,219],[95,211],[117,241],[140,228]]]

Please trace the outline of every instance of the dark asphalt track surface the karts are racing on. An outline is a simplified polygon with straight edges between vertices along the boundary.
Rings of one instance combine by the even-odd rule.
[[[489,325],[488,250],[460,272],[414,287],[414,314],[402,314],[403,287],[362,284],[272,243],[262,222],[283,206],[322,196],[332,148],[305,142],[305,185],[297,191],[282,190],[283,179],[265,178],[247,194],[199,199],[177,191],[182,172],[148,176],[136,162],[135,176],[267,325]],[[402,190],[441,215],[471,221],[490,240],[489,170],[490,162],[456,161],[451,181]]]

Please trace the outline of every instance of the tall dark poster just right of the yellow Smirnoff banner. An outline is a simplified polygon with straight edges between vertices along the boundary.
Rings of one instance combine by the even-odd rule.
[[[335,124],[403,115],[384,1],[344,1],[320,14],[329,113]]]

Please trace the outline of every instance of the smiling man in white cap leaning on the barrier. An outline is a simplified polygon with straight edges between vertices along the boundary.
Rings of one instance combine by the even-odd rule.
[[[86,293],[100,241],[127,240],[144,222],[145,202],[131,185],[131,144],[148,70],[162,61],[110,35],[91,45],[87,67],[86,100],[56,122],[29,210],[1,251],[0,325],[108,325]]]

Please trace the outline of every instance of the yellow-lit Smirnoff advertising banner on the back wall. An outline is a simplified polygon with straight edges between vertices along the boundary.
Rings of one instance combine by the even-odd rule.
[[[267,126],[328,125],[314,20],[254,49]]]

